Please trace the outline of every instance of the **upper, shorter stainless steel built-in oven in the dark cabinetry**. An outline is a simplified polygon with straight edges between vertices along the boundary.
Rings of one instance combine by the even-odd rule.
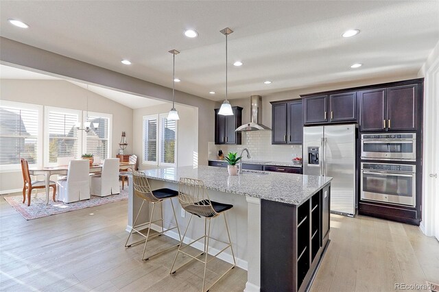
[[[416,161],[416,134],[362,134],[361,159]]]

